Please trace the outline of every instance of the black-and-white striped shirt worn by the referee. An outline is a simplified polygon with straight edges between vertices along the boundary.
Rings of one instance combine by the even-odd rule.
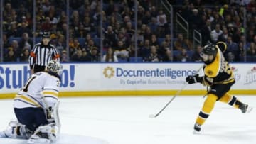
[[[33,47],[28,59],[31,69],[34,65],[47,66],[50,60],[60,62],[60,55],[53,45],[43,45],[43,43],[37,43]]]

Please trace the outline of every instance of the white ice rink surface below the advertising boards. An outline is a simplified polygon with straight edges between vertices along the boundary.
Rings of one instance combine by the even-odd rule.
[[[177,96],[157,117],[171,96],[60,98],[60,140],[56,144],[255,144],[256,96],[237,96],[250,104],[251,113],[242,114],[228,104],[217,102],[202,126],[193,125],[203,106],[203,96]],[[4,130],[14,119],[12,100],[0,100]],[[0,138],[1,144],[23,144],[26,140]]]

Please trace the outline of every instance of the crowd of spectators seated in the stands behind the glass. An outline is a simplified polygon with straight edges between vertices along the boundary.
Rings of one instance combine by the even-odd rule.
[[[176,21],[154,0],[137,1],[137,35],[134,0],[103,1],[103,11],[99,0],[73,0],[69,13],[65,0],[36,0],[36,31],[32,0],[4,0],[4,62],[28,62],[41,31],[50,31],[61,62],[200,62],[202,46],[219,40],[228,45],[225,57],[230,62],[256,61],[256,0],[170,2],[174,14],[201,33],[202,45],[193,48],[192,40],[175,29],[171,35],[170,23]]]

